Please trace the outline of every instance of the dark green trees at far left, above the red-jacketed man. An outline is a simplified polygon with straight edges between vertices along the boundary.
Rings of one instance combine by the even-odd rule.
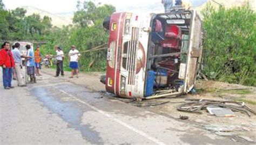
[[[25,16],[26,10],[16,8],[7,11],[0,1],[0,39],[1,40],[44,40],[50,34],[51,18],[38,14]]]

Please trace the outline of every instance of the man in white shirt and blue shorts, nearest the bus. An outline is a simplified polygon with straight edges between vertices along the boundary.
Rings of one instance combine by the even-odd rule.
[[[73,78],[75,72],[78,78],[78,60],[80,58],[80,55],[81,54],[76,49],[76,46],[72,45],[71,50],[69,51],[69,67],[72,69],[70,78]]]

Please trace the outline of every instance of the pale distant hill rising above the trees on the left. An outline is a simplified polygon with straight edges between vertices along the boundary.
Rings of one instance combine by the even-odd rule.
[[[34,8],[32,6],[21,6],[21,8],[25,9],[26,16],[32,15],[33,13],[37,13],[43,18],[44,16],[49,16],[52,19],[52,25],[57,27],[62,27],[63,25],[72,24],[73,13],[50,13],[48,11],[44,11],[38,8]]]

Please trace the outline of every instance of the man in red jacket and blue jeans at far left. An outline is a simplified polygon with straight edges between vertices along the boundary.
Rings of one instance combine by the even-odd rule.
[[[11,86],[12,68],[14,68],[14,58],[10,50],[10,43],[4,42],[0,50],[0,66],[3,68],[4,89],[14,88]]]

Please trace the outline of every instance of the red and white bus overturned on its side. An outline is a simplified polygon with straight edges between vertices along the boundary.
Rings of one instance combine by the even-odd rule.
[[[193,89],[203,29],[194,10],[137,15],[117,12],[109,29],[106,91],[124,98],[177,96]]]

